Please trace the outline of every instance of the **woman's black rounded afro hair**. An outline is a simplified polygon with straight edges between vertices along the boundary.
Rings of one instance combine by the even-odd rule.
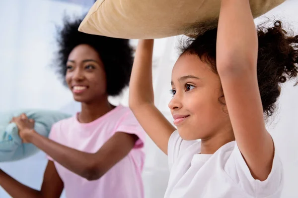
[[[78,26],[82,19],[69,20],[64,18],[64,25],[58,29],[58,72],[64,83],[66,63],[71,51],[80,44],[87,44],[94,48],[103,62],[106,79],[107,94],[117,96],[123,88],[128,86],[133,66],[133,49],[127,39],[116,39],[79,32]]]

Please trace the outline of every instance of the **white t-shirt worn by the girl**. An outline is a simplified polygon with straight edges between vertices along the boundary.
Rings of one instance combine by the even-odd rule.
[[[170,178],[164,198],[280,198],[283,168],[274,154],[271,173],[255,180],[235,141],[214,154],[201,152],[200,141],[185,141],[175,131],[168,142]]]

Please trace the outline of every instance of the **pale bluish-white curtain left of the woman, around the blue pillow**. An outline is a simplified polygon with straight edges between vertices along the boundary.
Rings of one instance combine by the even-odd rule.
[[[88,11],[93,1],[0,1],[0,111],[56,110],[72,101],[51,66],[56,25],[62,24],[64,14],[80,16]],[[45,154],[39,152],[28,159],[0,163],[0,168],[23,184],[40,189],[46,163]],[[9,198],[1,187],[0,198]]]

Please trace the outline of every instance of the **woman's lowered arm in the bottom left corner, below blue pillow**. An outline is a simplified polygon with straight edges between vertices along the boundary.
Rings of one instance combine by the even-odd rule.
[[[60,198],[64,188],[52,161],[48,162],[40,191],[21,184],[1,169],[0,186],[13,198]]]

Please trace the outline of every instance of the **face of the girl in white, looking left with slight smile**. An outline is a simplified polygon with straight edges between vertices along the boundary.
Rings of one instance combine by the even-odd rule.
[[[169,108],[184,140],[208,139],[230,131],[219,76],[196,55],[181,55],[172,71],[173,98]],[[224,98],[221,99],[224,102]]]

